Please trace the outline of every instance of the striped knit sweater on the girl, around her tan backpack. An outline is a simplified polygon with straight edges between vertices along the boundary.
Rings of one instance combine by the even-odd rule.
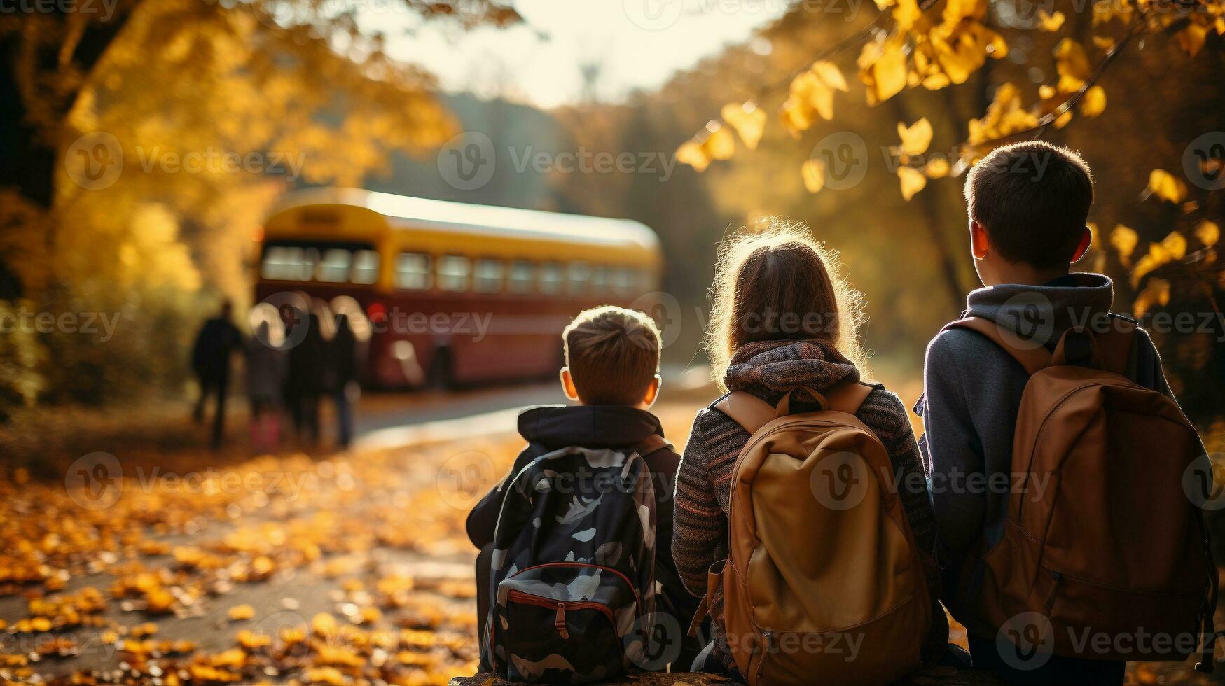
[[[832,347],[816,341],[761,342],[741,347],[724,374],[730,391],[747,391],[777,403],[799,386],[824,392],[842,381],[859,381],[860,372]],[[816,409],[812,398],[797,391],[794,412]],[[805,398],[810,402],[805,403]],[[856,417],[884,445],[893,463],[897,484],[922,483],[925,475],[919,446],[907,418],[905,407],[893,393],[872,391]],[[685,587],[695,595],[707,590],[707,570],[728,557],[728,500],[733,468],[748,441],[745,431],[730,417],[714,408],[698,410],[676,475],[673,557]],[[910,492],[910,491],[914,492]],[[933,552],[936,546],[931,502],[926,489],[903,488],[902,506],[919,548]],[[820,545],[818,541],[813,543]],[[948,624],[940,609],[932,586],[932,630],[924,654],[942,652],[948,638]],[[723,632],[723,589],[715,590],[709,605],[714,654],[734,666]]]

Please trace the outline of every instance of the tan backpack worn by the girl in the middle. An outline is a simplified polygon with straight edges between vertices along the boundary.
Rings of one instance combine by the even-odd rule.
[[[931,601],[889,456],[855,418],[872,387],[805,391],[824,409],[789,414],[791,393],[778,407],[745,392],[714,405],[752,437],[709,588],[723,586],[748,684],[893,681],[920,664]]]

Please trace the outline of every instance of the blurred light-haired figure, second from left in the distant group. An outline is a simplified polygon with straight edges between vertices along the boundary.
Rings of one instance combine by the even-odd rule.
[[[277,322],[279,323],[279,322]],[[251,402],[251,446],[260,453],[281,450],[283,386],[289,355],[282,349],[283,336],[273,333],[272,322],[261,321],[246,344],[246,393]]]

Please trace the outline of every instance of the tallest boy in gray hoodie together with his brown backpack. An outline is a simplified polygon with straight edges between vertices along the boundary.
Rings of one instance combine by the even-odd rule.
[[[942,593],[974,666],[1011,684],[1122,684],[1212,632],[1216,572],[1182,489],[1203,454],[1148,333],[1110,312],[1088,165],[995,149],[965,180],[984,288],[927,347],[922,415]],[[1204,666],[1210,668],[1212,642]]]

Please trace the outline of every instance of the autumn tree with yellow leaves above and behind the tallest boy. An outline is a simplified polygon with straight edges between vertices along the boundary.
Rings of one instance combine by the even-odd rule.
[[[1088,268],[1116,276],[1118,307],[1142,318],[1163,309],[1199,312],[1207,322],[1219,315],[1225,288],[1216,257],[1225,214],[1216,192],[1225,186],[1223,12],[1215,0],[878,0],[871,16],[846,23],[801,5],[779,26],[821,31],[823,40],[810,44],[786,78],[760,77],[715,108],[719,118],[676,154],[699,172],[734,174],[725,160],[752,157],[737,148],[789,145],[800,160],[780,174],[796,183],[771,183],[802,185],[818,201],[853,196],[833,203],[845,212],[865,202],[864,189],[831,190],[837,160],[813,143],[846,131],[884,152],[902,198],[926,203],[938,194],[941,202],[918,208],[924,214],[941,212],[959,191],[959,181],[937,180],[960,176],[993,147],[1054,138],[1085,151],[1098,172]],[[848,108],[854,114],[839,118]],[[881,136],[881,120],[895,123],[895,134]],[[964,209],[943,224],[927,241],[940,246],[940,258],[918,263],[943,271],[947,292],[960,294],[973,285]],[[1204,349],[1225,333],[1219,320],[1213,326],[1198,337],[1158,332],[1182,372],[1176,383],[1202,396],[1198,407],[1209,417],[1219,414],[1221,377],[1196,370],[1225,370],[1223,347]]]

